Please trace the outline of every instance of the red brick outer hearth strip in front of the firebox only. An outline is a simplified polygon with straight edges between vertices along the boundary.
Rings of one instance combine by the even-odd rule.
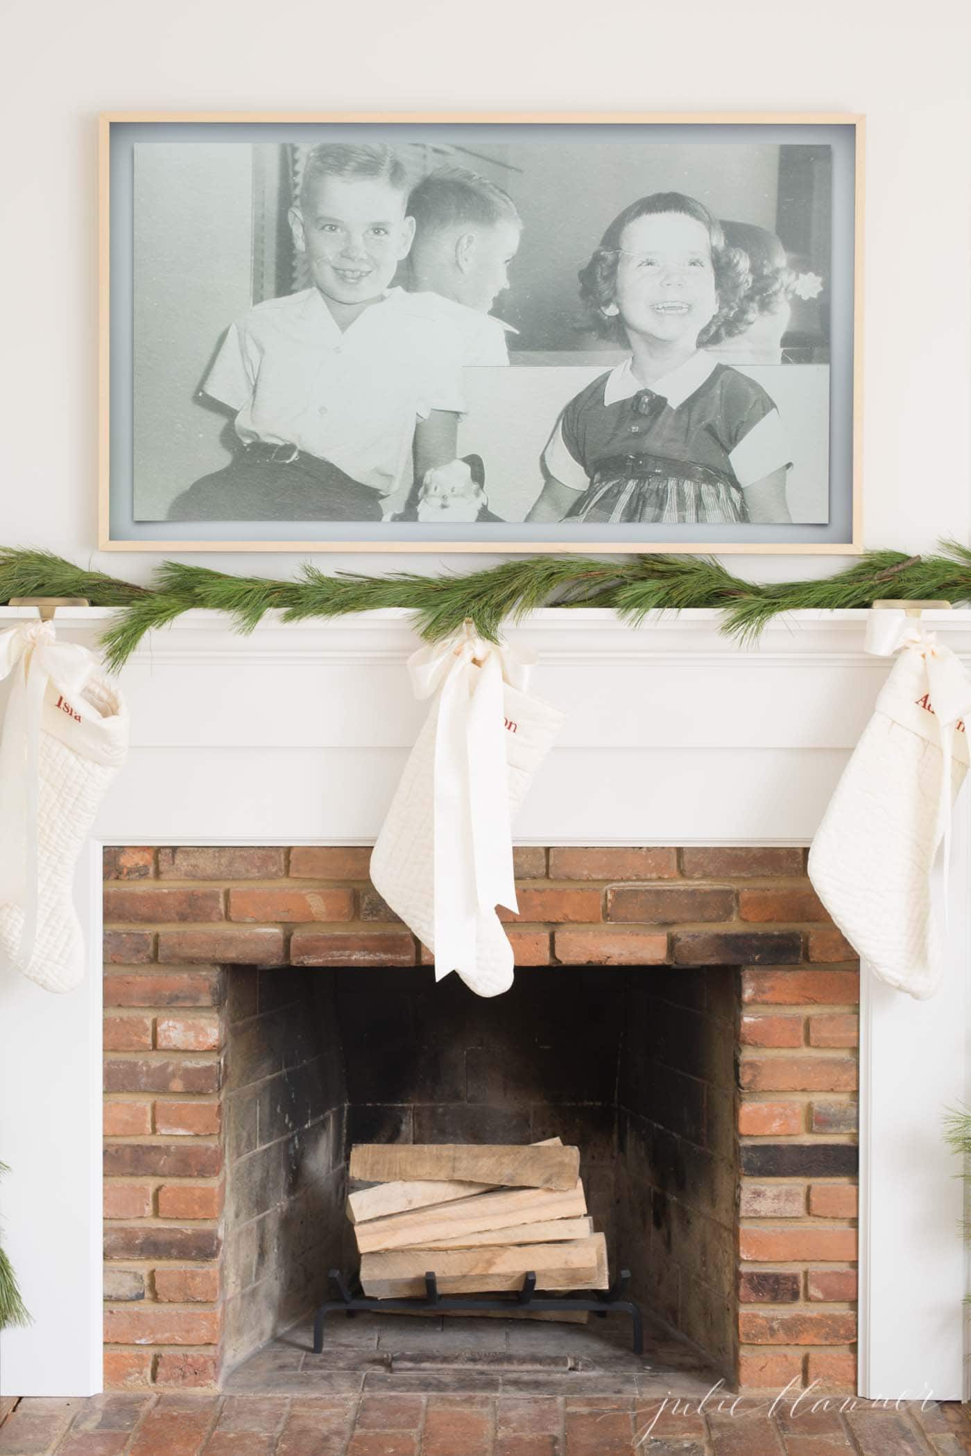
[[[843,1406],[849,1396],[834,1396]],[[671,1414],[657,1398],[100,1395],[22,1401],[1,1456],[956,1456],[961,1405]],[[654,1424],[652,1424],[654,1423]]]

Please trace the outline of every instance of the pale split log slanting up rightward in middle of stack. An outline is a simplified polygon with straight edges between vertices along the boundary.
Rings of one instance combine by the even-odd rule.
[[[371,1219],[368,1223],[355,1223],[354,1236],[361,1254],[373,1254],[379,1249],[427,1248],[428,1242],[437,1239],[454,1239],[489,1229],[511,1229],[518,1223],[579,1219],[585,1213],[587,1198],[578,1178],[568,1192],[550,1192],[546,1188],[502,1188],[496,1192],[480,1192],[475,1198],[464,1198],[441,1210]]]

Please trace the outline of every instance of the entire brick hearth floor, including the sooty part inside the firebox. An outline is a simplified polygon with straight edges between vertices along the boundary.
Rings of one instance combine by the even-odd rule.
[[[544,1324],[537,1354],[536,1324],[330,1316],[323,1356],[312,1353],[310,1325],[294,1325],[237,1366],[223,1395],[25,1399],[0,1425],[0,1456],[971,1452],[971,1406],[885,1408],[793,1389],[770,1409],[773,1395],[712,1395],[716,1373],[651,1316],[643,1356],[632,1354],[629,1331],[622,1318]]]

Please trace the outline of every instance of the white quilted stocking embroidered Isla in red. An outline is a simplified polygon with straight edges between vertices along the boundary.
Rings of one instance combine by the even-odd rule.
[[[99,676],[90,676],[70,699],[48,683],[39,712],[35,791],[28,792],[26,741],[4,741],[4,773],[16,776],[15,783],[0,783],[0,802],[13,808],[4,831],[20,844],[15,849],[7,839],[6,847],[19,850],[19,884],[9,871],[3,875],[0,958],[49,992],[68,992],[84,974],[73,904],[74,866],[127,745],[127,712],[114,686]],[[33,834],[26,826],[31,810]],[[35,863],[25,855],[29,842],[36,846]]]

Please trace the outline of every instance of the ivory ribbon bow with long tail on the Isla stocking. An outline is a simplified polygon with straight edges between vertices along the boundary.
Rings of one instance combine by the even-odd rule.
[[[0,904],[23,916],[16,962],[31,964],[38,904],[38,778],[41,715],[48,683],[77,699],[96,665],[93,652],[57,642],[51,622],[0,632],[0,680],[13,674],[0,741]]]

